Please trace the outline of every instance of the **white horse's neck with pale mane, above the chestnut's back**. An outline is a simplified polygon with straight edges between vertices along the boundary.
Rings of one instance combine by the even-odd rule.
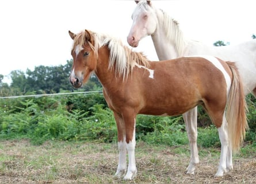
[[[151,37],[158,59],[174,59],[184,55],[185,41],[178,23],[162,10],[155,11],[158,25]]]

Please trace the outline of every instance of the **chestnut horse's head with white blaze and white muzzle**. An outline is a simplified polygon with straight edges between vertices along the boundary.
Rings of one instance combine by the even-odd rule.
[[[96,68],[97,54],[94,48],[94,36],[89,30],[79,34],[70,31],[68,33],[74,40],[71,51],[73,66],[69,80],[72,86],[79,88],[87,82],[91,72]]]

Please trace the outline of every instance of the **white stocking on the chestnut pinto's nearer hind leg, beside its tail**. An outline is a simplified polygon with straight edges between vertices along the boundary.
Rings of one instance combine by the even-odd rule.
[[[228,156],[228,133],[227,133],[227,121],[225,118],[225,113],[223,115],[223,121],[220,128],[218,128],[220,143],[221,143],[221,151],[220,151],[220,164],[215,174],[217,177],[222,177],[224,173],[227,173],[227,158]],[[229,152],[230,153],[230,152]],[[231,152],[232,155],[232,152]]]

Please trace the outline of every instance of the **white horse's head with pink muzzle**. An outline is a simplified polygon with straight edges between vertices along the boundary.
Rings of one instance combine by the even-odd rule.
[[[128,44],[137,47],[139,41],[155,32],[157,17],[151,1],[135,1],[137,6],[132,13],[132,27],[127,37]]]

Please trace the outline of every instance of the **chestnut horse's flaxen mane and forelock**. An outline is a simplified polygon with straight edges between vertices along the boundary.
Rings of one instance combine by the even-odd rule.
[[[91,37],[90,37],[91,36]],[[91,43],[94,42],[94,45]],[[72,50],[77,47],[82,48],[83,45],[89,45],[91,49],[98,55],[98,48],[108,45],[110,49],[109,69],[116,68],[116,74],[128,76],[132,72],[135,64],[148,66],[148,59],[141,52],[134,52],[132,49],[121,43],[121,40],[107,36],[106,34],[99,34],[90,32],[90,35],[83,31],[78,33],[74,39]]]

